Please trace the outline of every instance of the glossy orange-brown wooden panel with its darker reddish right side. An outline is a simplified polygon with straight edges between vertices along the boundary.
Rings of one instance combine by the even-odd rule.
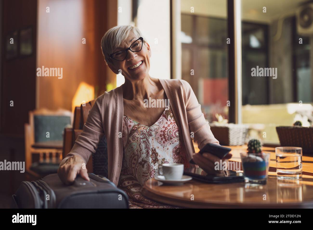
[[[37,67],[63,68],[62,79],[37,77],[38,108],[71,110],[82,82],[95,87],[95,96],[104,92],[108,67],[100,41],[108,29],[107,4],[102,0],[38,1]]]

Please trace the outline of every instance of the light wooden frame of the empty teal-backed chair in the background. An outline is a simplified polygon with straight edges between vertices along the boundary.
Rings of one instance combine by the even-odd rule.
[[[47,117],[44,118],[45,116]],[[49,120],[51,117],[51,119],[55,118],[56,120],[54,121],[57,122],[57,119],[59,119],[58,118],[59,116],[62,117],[62,121],[61,121],[62,123],[64,123],[65,120],[67,120],[66,117],[69,117],[69,125],[71,124],[73,120],[73,115],[68,110],[59,109],[57,111],[51,111],[47,109],[39,109],[39,110],[34,110],[34,111],[29,112],[29,123],[24,125],[24,128],[25,128],[24,130],[24,133],[25,133],[25,168],[26,168],[25,171],[27,172],[28,178],[30,178],[29,176],[33,176],[35,178],[40,178],[44,176],[44,175],[39,175],[35,171],[31,170],[31,166],[33,163],[35,162],[58,163],[62,159],[62,147],[63,147],[62,138],[60,140],[54,140],[54,138],[57,138],[59,134],[53,134],[53,133],[50,134],[49,132],[49,135],[52,135],[51,136],[52,140],[47,138],[47,141],[38,141],[38,140],[42,140],[42,138],[38,138],[38,134],[35,131],[35,125],[38,123],[39,119],[44,118],[45,120],[47,119]],[[41,122],[44,122],[44,120],[42,120]],[[36,139],[38,140],[36,141]]]

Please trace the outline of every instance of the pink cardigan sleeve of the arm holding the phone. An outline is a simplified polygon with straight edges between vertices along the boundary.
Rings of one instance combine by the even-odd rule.
[[[219,145],[218,140],[215,139],[211,131],[209,123],[204,118],[201,105],[190,84],[185,80],[181,81],[186,95],[187,121],[190,131],[194,133],[194,141],[198,144],[199,149],[202,149],[208,143]]]

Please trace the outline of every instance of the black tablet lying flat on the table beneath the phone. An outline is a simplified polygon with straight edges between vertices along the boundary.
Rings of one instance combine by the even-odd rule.
[[[192,179],[212,184],[226,184],[244,182],[244,174],[242,172],[227,170],[228,176],[213,175],[206,173],[202,168],[185,168],[184,175],[191,176]]]

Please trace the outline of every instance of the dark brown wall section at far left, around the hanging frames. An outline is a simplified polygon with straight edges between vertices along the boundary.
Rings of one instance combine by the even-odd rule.
[[[1,134],[13,137],[24,135],[28,111],[35,108],[36,67],[36,0],[4,0],[1,74]],[[5,58],[8,33],[31,27],[33,54],[26,57]],[[14,40],[18,43],[18,40]],[[18,46],[19,48],[19,46]],[[10,106],[13,100],[14,106]]]

